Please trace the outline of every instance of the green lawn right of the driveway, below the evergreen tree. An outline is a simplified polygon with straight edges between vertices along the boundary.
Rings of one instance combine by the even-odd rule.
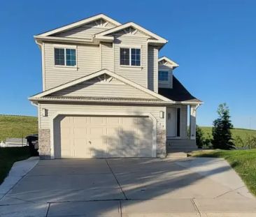
[[[243,179],[250,192],[256,195],[256,149],[193,151],[192,156],[225,158]]]

